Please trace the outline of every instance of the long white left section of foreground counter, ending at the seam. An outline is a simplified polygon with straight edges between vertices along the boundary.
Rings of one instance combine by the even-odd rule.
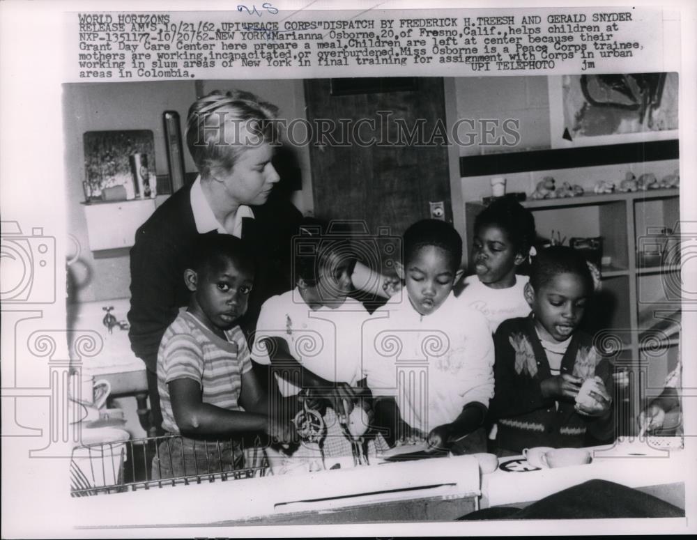
[[[474,511],[479,486],[475,458],[457,456],[141,489],[74,503],[82,527],[442,521]]]

